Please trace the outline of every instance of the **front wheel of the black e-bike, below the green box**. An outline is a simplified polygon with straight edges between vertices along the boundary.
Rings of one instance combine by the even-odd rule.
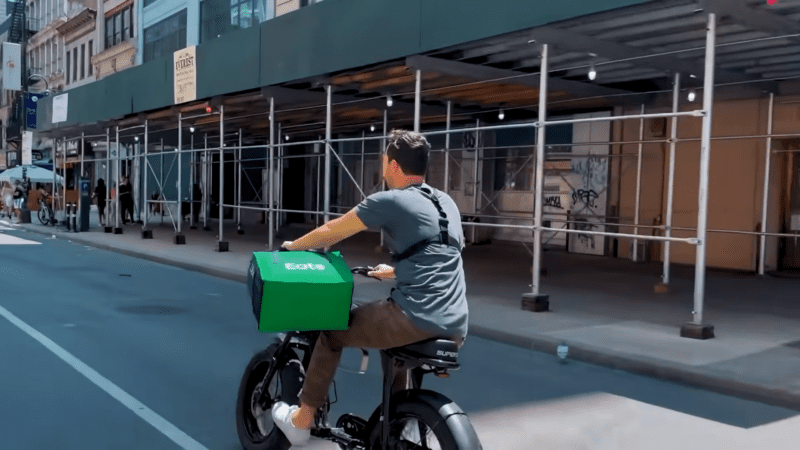
[[[283,401],[299,404],[297,395],[303,387],[305,371],[297,355],[288,350],[277,355],[278,369],[272,380],[264,380],[272,365],[272,356],[278,344],[270,345],[257,353],[245,368],[239,385],[236,402],[236,430],[245,450],[286,450],[291,445],[283,433],[272,422],[272,404]],[[266,385],[265,385],[266,382]],[[269,401],[265,407],[258,403],[258,392],[265,390]]]

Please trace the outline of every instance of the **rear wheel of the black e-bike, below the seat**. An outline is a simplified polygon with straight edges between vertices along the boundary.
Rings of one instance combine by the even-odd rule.
[[[467,415],[433,391],[402,391],[392,397],[387,450],[482,450]],[[380,407],[370,419],[370,449],[380,446]]]

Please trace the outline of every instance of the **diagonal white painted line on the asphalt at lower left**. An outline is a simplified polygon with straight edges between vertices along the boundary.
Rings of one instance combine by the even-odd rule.
[[[73,356],[68,351],[61,348],[58,344],[50,340],[47,336],[36,331],[31,326],[17,318],[14,314],[7,309],[0,306],[0,315],[8,319],[9,322],[16,325],[19,329],[28,334],[28,336],[39,341],[40,344],[47,347],[48,350],[55,353],[56,356],[61,358],[65,363],[72,366],[75,370],[80,372],[81,375],[88,378],[92,383],[96,384],[100,389],[106,391],[110,396],[114,397],[125,405],[128,409],[133,411],[134,414],[144,419],[145,422],[152,425],[155,429],[170,438],[173,442],[178,444],[181,448],[191,450],[208,450],[201,443],[192,439],[189,435],[179,430],[175,425],[167,422],[166,419],[158,415],[155,411],[145,406],[139,400],[133,398],[130,394],[123,391],[122,388],[112,383],[104,376],[97,373],[94,369],[84,364],[81,360]]]

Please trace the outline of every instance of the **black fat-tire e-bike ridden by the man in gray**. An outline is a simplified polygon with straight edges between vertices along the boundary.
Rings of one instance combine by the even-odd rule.
[[[369,276],[372,267],[355,267],[352,273]],[[376,277],[372,277],[376,278]],[[246,450],[281,449],[289,441],[272,422],[272,405],[285,401],[296,405],[311,351],[319,331],[281,333],[276,342],[257,353],[245,368],[236,402],[236,429]],[[369,356],[362,349],[361,370]],[[301,356],[298,356],[298,352]],[[336,427],[328,422],[331,401],[317,411],[311,435],[332,441],[343,450],[481,450],[480,440],[466,413],[444,395],[424,390],[422,378],[434,373],[447,378],[458,370],[458,345],[446,339],[427,339],[403,347],[381,350],[383,400],[365,420],[344,414]],[[411,371],[412,388],[391,394],[392,367]],[[336,395],[336,384],[333,385]],[[388,417],[388,420],[382,418]]]

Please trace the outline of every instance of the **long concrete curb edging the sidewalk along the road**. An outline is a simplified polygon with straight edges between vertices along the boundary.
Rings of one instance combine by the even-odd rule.
[[[37,229],[30,229],[24,225],[21,226],[21,228],[32,233],[37,233],[40,235],[56,235],[59,238],[68,238],[69,240],[82,245],[120,253],[159,264],[180,267],[182,269],[204,273],[217,278],[240,283],[247,282],[246,275],[238,275],[224,270],[210,269],[201,265],[153,256],[144,252],[121,249],[111,245],[91,242],[89,240],[81,239],[79,233],[72,234],[62,230],[54,230],[55,233],[44,232]],[[481,325],[470,325],[469,331],[470,334],[484,339],[548,353],[551,355],[555,355],[556,348],[561,343],[560,339],[549,336],[522,336]],[[647,358],[643,359],[642,357],[633,357],[626,354],[610,354],[607,351],[597,347],[572,344],[570,344],[569,359],[610,369],[622,370],[649,378],[656,378],[664,381],[683,384],[689,387],[700,388],[723,395],[739,397],[744,400],[751,400],[772,406],[800,411],[800,395],[798,394],[783,389],[775,389],[764,385],[737,381],[732,378],[701,373],[699,370],[686,365],[670,363],[663,360]]]

